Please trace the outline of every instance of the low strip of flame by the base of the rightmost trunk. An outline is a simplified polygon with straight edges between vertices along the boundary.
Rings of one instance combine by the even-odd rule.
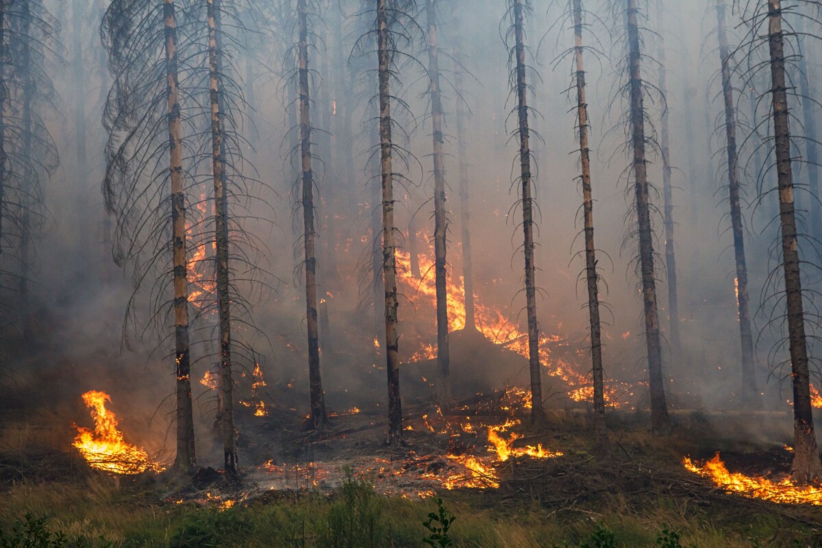
[[[790,477],[774,481],[764,476],[750,477],[738,472],[728,472],[718,453],[702,466],[688,457],[682,463],[690,472],[707,477],[728,492],[739,493],[750,499],[770,500],[780,504],[822,505],[822,487],[797,486]]]

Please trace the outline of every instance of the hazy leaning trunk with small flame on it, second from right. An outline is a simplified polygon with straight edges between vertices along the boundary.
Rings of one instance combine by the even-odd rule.
[[[727,187],[730,193],[731,227],[734,257],[737,261],[737,306],[739,333],[742,344],[742,400],[746,405],[755,403],[756,372],[754,366],[754,339],[750,330],[750,299],[748,297],[748,269],[745,258],[745,233],[742,226],[740,203],[739,156],[737,154],[737,111],[733,100],[731,81],[731,51],[727,44],[725,0],[717,0],[719,60],[722,62],[722,86],[725,98],[725,133],[727,136]]]

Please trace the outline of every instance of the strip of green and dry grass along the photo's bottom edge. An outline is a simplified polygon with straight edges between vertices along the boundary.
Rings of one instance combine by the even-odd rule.
[[[620,504],[618,497],[607,509],[594,509],[551,508],[536,502],[495,505],[486,500],[496,496],[493,493],[442,496],[456,518],[449,536],[452,546],[459,548],[822,546],[811,527],[774,515],[714,513],[676,500],[652,500],[636,510]],[[225,510],[187,503],[152,504],[153,500],[156,495],[118,489],[106,478],[73,486],[20,483],[0,495],[0,539],[10,537],[13,527],[19,531],[30,514],[45,518],[44,527],[61,532],[67,544],[0,541],[0,548],[423,548],[428,537],[423,523],[437,510],[430,498],[375,495],[366,481],[356,478],[330,499],[311,494],[272,496]]]

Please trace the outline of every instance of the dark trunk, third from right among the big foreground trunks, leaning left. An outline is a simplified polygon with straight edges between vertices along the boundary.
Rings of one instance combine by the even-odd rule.
[[[651,392],[651,428],[656,433],[670,429],[663,383],[662,345],[659,342],[657,287],[653,268],[653,228],[651,228],[648,192],[648,166],[645,159],[644,82],[640,70],[640,28],[637,22],[636,0],[626,0],[628,25],[628,70],[630,78],[630,127],[634,150],[636,215],[640,239],[640,268],[644,302],[645,342],[648,347],[648,375]]]

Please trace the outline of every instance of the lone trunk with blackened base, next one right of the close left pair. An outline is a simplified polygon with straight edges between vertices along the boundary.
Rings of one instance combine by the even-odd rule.
[[[305,238],[306,314],[308,329],[308,378],[311,391],[311,427],[326,426],[326,397],[320,373],[320,338],[316,308],[316,232],[314,230],[314,173],[311,156],[311,97],[308,89],[307,0],[297,0],[299,25],[298,71],[300,108],[300,157],[302,159],[302,226]]]

